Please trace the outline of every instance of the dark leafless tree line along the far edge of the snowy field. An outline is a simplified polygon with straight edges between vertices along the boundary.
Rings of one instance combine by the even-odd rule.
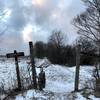
[[[65,44],[65,36],[61,31],[53,31],[48,42],[37,41],[34,44],[34,55],[37,58],[47,57],[53,64],[61,64],[68,66],[76,65],[76,43],[73,45]],[[81,44],[81,51],[86,53],[95,53],[96,47],[93,42],[79,38],[78,43]],[[92,65],[95,59],[93,57],[81,55],[81,65]]]

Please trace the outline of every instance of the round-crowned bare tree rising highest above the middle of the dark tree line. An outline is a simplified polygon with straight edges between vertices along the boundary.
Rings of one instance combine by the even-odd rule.
[[[65,36],[61,31],[53,31],[48,41],[49,60],[52,63],[62,64],[65,46]]]

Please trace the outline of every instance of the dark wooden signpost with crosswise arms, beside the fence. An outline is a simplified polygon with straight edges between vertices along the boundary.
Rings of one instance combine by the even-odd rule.
[[[20,72],[19,72],[19,65],[18,65],[18,57],[24,56],[24,52],[17,52],[16,50],[14,50],[14,53],[8,53],[6,54],[6,56],[7,58],[15,58],[18,90],[21,90],[21,80],[20,80]]]

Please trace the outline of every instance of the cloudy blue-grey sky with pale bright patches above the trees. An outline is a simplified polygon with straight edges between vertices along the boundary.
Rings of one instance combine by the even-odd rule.
[[[61,30],[67,42],[77,37],[73,18],[84,11],[81,0],[0,0],[0,54],[28,50],[28,42],[47,42]]]

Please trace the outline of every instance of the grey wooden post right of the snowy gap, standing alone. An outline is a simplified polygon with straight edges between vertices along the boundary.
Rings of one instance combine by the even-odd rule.
[[[79,87],[79,70],[80,70],[80,45],[76,46],[76,72],[75,72],[75,91]]]

